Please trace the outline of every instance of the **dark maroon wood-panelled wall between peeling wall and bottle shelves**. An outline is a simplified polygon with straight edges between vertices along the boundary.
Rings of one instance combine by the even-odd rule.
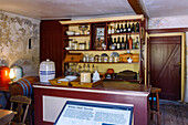
[[[40,24],[40,62],[46,59],[53,61],[56,76],[62,75],[62,60],[64,59],[64,29],[59,21],[42,20]]]

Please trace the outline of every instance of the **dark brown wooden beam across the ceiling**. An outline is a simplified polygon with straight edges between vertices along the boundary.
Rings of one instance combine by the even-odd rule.
[[[145,18],[149,18],[146,9],[142,6],[140,0],[128,0],[128,3],[136,14],[144,14]]]

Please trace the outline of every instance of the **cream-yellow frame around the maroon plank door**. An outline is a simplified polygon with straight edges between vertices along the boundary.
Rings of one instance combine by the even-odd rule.
[[[149,84],[150,76],[148,76],[149,72],[149,56],[148,56],[148,44],[149,38],[152,37],[181,37],[181,102],[185,102],[185,87],[186,87],[186,33],[185,32],[174,32],[174,33],[146,33],[146,51],[145,51],[145,84]],[[146,76],[147,75],[147,76]]]

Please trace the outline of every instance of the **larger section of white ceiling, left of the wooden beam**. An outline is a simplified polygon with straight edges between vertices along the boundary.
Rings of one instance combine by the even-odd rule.
[[[38,19],[135,14],[127,0],[0,0],[0,10]]]

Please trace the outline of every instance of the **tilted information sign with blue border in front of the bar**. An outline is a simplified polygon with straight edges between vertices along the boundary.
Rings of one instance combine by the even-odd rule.
[[[67,101],[54,125],[132,125],[133,106]]]

